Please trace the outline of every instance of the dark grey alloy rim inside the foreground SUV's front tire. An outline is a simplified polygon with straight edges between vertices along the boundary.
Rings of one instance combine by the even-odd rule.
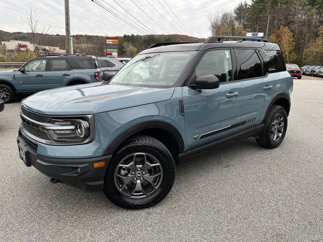
[[[118,191],[126,197],[145,198],[160,186],[163,168],[154,156],[133,153],[120,161],[114,178]]]

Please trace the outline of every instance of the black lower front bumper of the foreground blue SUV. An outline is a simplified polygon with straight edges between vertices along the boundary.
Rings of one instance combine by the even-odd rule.
[[[27,150],[31,165],[41,173],[83,191],[103,189],[106,167],[112,155],[81,159],[51,158],[38,154],[35,145],[21,134],[17,142]],[[105,166],[94,168],[93,163],[100,161],[105,161]]]

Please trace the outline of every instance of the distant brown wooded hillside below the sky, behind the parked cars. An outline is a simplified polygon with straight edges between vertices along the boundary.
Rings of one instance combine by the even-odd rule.
[[[65,35],[39,34],[40,44],[48,46],[58,46],[65,49]],[[73,35],[73,50],[75,53],[85,53],[96,56],[104,55],[105,36],[98,35]],[[188,35],[124,35],[120,37],[120,55],[131,57],[135,52],[139,52],[157,42],[203,42],[204,38],[196,38]],[[29,41],[28,33],[6,32],[0,30],[0,41],[21,40]],[[133,47],[130,47],[133,46]]]

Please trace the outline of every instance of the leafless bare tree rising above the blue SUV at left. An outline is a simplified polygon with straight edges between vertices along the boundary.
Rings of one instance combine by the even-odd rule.
[[[50,24],[45,25],[45,23],[41,23],[36,14],[36,9],[33,7],[29,7],[29,9],[25,11],[25,15],[23,16],[22,20],[28,26],[28,38],[33,46],[33,51],[39,52],[41,49],[40,38],[43,34],[48,33],[50,30]]]

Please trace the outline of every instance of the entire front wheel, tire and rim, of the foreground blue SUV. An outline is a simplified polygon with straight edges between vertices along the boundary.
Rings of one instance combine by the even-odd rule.
[[[103,192],[119,207],[147,208],[167,196],[174,179],[175,164],[166,146],[152,137],[136,136],[110,161]]]

